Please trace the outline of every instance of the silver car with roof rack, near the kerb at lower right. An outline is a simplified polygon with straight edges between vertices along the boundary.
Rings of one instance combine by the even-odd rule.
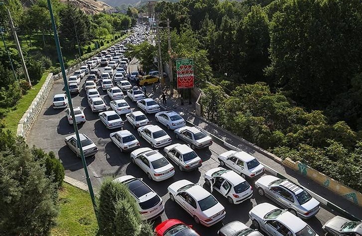
[[[320,209],[315,198],[287,179],[266,175],[255,181],[255,187],[260,196],[267,196],[300,218],[309,219]]]

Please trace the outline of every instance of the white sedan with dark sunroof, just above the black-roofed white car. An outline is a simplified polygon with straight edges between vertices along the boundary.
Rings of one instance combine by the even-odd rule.
[[[175,169],[171,163],[157,150],[152,150],[149,147],[132,151],[131,162],[138,165],[150,180],[162,181],[175,174]]]

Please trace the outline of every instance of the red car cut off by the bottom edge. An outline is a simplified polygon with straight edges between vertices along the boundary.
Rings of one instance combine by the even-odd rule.
[[[192,229],[192,226],[182,221],[170,219],[162,222],[154,230],[157,236],[200,236]]]

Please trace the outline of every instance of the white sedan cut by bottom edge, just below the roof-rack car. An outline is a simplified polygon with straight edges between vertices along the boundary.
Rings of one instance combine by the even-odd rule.
[[[251,224],[269,236],[318,236],[302,219],[270,203],[261,203],[249,211]]]

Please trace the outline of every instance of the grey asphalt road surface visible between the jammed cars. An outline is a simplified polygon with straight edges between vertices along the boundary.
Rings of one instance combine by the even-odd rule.
[[[132,61],[130,64],[132,64],[130,70],[136,70],[136,62]],[[103,70],[102,67],[99,69]],[[84,81],[85,79],[82,80],[81,85],[83,85]],[[103,92],[101,88],[98,88],[98,90],[101,94],[101,97],[104,98],[106,104],[109,105],[111,100],[108,97],[107,92]],[[149,86],[147,91],[150,90],[151,88]],[[82,161],[77,158],[76,155],[64,143],[64,137],[73,133],[73,126],[68,124],[64,112],[65,109],[54,110],[52,108],[53,96],[60,93],[64,93],[64,84],[62,80],[58,80],[54,83],[53,89],[50,91],[48,99],[42,108],[42,112],[40,113],[30,134],[27,137],[27,142],[29,145],[36,145],[43,148],[47,152],[54,151],[62,161],[66,170],[66,175],[86,183]],[[138,110],[136,103],[132,102],[127,97],[125,100],[131,107],[134,108],[134,111]],[[94,188],[97,190],[102,182],[103,177],[105,176],[118,177],[122,175],[133,175],[135,177],[143,178],[144,182],[148,184],[153,190],[155,190],[159,196],[162,197],[165,205],[165,212],[161,218],[155,220],[154,224],[158,224],[166,219],[176,218],[180,219],[186,224],[194,225],[194,229],[201,236],[216,236],[217,231],[222,227],[223,223],[227,224],[229,222],[238,220],[250,226],[251,222],[249,221],[248,217],[249,210],[251,210],[253,206],[262,202],[272,203],[267,198],[260,197],[255,191],[250,201],[243,202],[240,205],[231,205],[228,203],[226,198],[222,197],[219,193],[214,191],[215,197],[226,209],[226,218],[223,220],[223,223],[218,223],[210,228],[195,225],[195,222],[191,216],[189,216],[176,203],[169,200],[167,187],[171,183],[180,179],[188,179],[194,183],[200,183],[202,186],[204,186],[204,173],[211,168],[219,166],[217,157],[219,154],[227,151],[227,149],[214,143],[209,148],[196,150],[197,154],[203,160],[203,165],[201,168],[199,168],[199,170],[193,172],[181,172],[178,168],[175,168],[176,172],[172,178],[162,182],[150,181],[148,180],[147,175],[140,168],[130,163],[129,153],[121,153],[116,145],[112,143],[109,134],[115,130],[106,129],[105,125],[99,120],[98,114],[92,113],[88,106],[86,93],[83,89],[79,95],[72,96],[72,102],[73,106],[81,106],[84,108],[84,113],[87,119],[84,124],[78,125],[80,132],[87,134],[99,148],[99,152],[94,157],[87,158],[88,171],[91,176],[91,181]],[[108,108],[111,110],[109,106]],[[125,120],[124,115],[122,115],[121,118]],[[151,120],[153,124],[158,124],[160,127],[164,128],[165,131],[171,136],[172,143],[182,142],[175,138],[175,135],[172,131],[168,131],[162,124],[157,123],[154,120],[154,115],[148,114],[147,118]],[[128,122],[124,123],[123,129],[131,131],[140,141],[141,147],[150,147],[150,145],[144,139],[138,136],[137,131],[133,129]],[[160,148],[159,150],[163,154],[163,148]],[[249,183],[253,186],[252,182],[249,181]],[[316,231],[318,235],[321,236],[323,235],[321,229],[322,225],[333,217],[334,214],[321,208],[316,217],[313,217],[306,222]]]

